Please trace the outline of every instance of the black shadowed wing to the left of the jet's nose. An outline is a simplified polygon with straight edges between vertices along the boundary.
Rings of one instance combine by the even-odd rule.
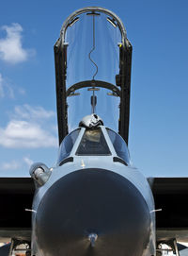
[[[0,237],[30,237],[34,192],[31,178],[0,178]]]

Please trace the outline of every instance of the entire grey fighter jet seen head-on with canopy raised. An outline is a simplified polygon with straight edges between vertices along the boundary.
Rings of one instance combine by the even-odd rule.
[[[78,9],[54,49],[59,154],[31,178],[0,179],[9,255],[21,244],[32,256],[154,256],[162,244],[179,255],[188,179],[145,178],[130,160],[132,44],[121,20]]]

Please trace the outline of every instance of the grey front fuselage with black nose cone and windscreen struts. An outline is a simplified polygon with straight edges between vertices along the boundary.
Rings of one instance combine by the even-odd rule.
[[[149,183],[117,154],[69,158],[39,188],[33,210],[33,255],[154,255],[154,203]],[[69,136],[69,135],[68,135]]]

